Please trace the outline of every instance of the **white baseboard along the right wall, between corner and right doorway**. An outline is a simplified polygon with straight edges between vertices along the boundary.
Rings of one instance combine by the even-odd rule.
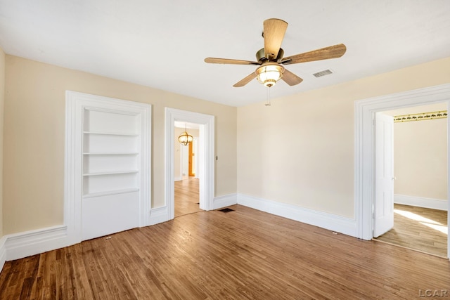
[[[238,193],[238,204],[356,237],[356,220]]]

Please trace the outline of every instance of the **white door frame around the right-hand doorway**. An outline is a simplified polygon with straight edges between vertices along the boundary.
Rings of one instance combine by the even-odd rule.
[[[373,237],[373,199],[374,199],[374,145],[373,115],[375,112],[397,108],[447,103],[450,107],[450,84],[432,86],[402,93],[394,93],[357,100],[355,102],[355,218],[357,237],[371,240]],[[450,141],[450,122],[447,121],[447,143]],[[450,151],[447,146],[447,159]],[[447,211],[450,211],[450,167],[447,181]],[[450,224],[450,214],[448,214]],[[450,231],[450,226],[449,226]],[[450,239],[447,236],[447,257],[450,257]]]

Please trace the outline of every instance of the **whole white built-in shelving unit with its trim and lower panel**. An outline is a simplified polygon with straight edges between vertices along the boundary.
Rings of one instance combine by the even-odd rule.
[[[66,108],[72,242],[150,225],[151,105],[66,91]]]

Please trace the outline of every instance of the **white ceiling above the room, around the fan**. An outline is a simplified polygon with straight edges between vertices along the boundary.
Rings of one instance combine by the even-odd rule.
[[[262,23],[289,23],[285,56],[343,43],[342,58],[288,65],[304,81],[271,98],[450,56],[449,0],[0,0],[0,46],[21,56],[226,105],[264,102],[255,60]],[[334,74],[312,74],[330,69]]]

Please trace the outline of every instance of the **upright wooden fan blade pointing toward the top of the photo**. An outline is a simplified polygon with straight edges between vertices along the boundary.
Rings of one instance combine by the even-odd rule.
[[[288,23],[280,19],[264,21],[264,56],[269,60],[278,56],[287,28]]]

